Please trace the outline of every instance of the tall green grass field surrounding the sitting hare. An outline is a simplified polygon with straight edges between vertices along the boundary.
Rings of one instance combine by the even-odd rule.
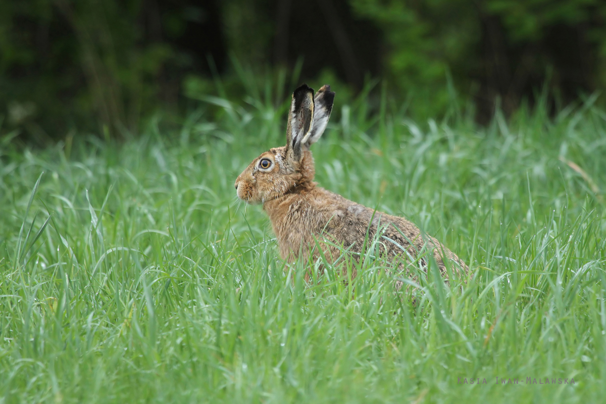
[[[279,259],[233,188],[284,143],[284,105],[253,90],[119,146],[2,144],[0,403],[603,400],[604,111],[474,128],[336,105],[319,183],[407,216],[473,271],[462,288],[430,273],[411,306],[386,262],[305,285]]]

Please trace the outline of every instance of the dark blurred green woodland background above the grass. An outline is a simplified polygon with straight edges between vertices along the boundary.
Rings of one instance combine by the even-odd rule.
[[[0,119],[34,143],[136,136],[225,95],[219,79],[243,96],[253,72],[287,83],[276,104],[327,81],[341,100],[385,88],[414,119],[457,103],[485,124],[603,90],[605,19],[598,0],[0,0]]]

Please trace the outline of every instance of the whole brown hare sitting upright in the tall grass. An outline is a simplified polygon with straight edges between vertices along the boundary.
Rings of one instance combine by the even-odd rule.
[[[433,237],[402,217],[367,208],[317,187],[310,145],[318,141],[330,118],[335,93],[325,85],[314,96],[303,84],[293,93],[288,114],[286,145],[257,157],[236,179],[238,197],[248,204],[263,204],[278,238],[282,259],[307,260],[310,252],[319,256],[318,245],[333,262],[346,248],[360,253],[365,240],[380,240],[380,250],[391,259],[404,262],[418,258],[419,251],[432,251],[442,276],[447,279],[445,259],[451,273],[467,274],[462,260]],[[367,241],[368,244],[368,241]],[[313,252],[312,252],[313,251]],[[419,259],[427,270],[425,257]],[[351,273],[353,278],[356,273]],[[402,286],[398,282],[398,289]]]

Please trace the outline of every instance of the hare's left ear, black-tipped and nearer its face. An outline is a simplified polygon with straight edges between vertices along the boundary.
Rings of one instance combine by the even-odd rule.
[[[295,161],[301,159],[302,140],[310,133],[313,118],[313,90],[303,84],[293,93],[293,102],[290,104],[286,130],[287,157]]]

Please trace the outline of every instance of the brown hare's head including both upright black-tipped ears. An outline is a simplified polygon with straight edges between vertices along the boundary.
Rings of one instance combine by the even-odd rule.
[[[265,151],[242,171],[235,184],[240,199],[262,204],[315,186],[309,147],[324,133],[333,99],[335,93],[328,85],[315,96],[306,84],[295,90],[288,114],[286,145]]]

